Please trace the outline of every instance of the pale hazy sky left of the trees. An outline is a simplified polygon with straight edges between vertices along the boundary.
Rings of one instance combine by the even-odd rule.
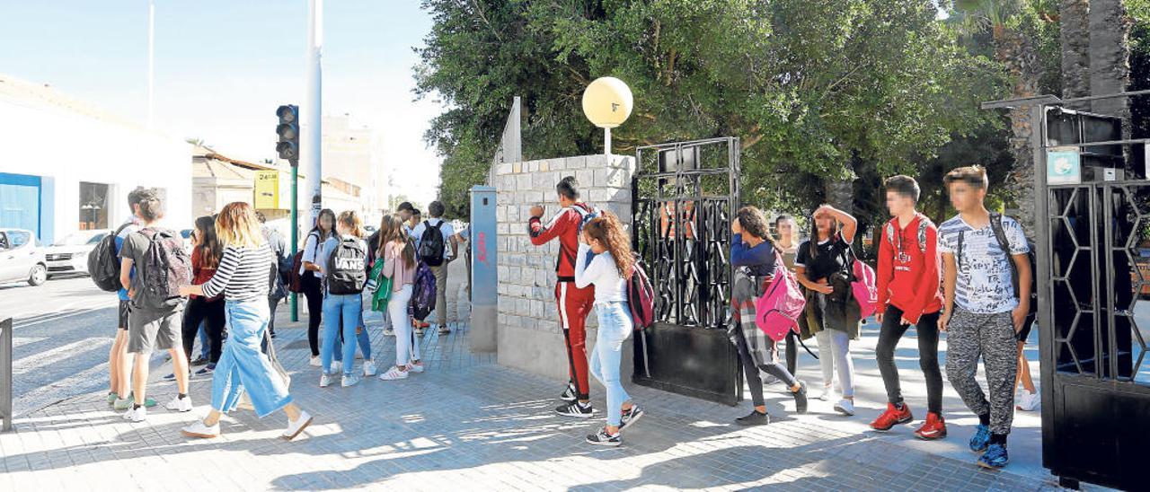
[[[147,122],[147,0],[0,0],[0,74]],[[274,157],[275,109],[302,105],[307,0],[154,0],[155,129],[235,159]],[[415,99],[430,31],[419,0],[327,0],[323,112],[381,131],[396,185],[435,198],[423,132],[438,101]]]

